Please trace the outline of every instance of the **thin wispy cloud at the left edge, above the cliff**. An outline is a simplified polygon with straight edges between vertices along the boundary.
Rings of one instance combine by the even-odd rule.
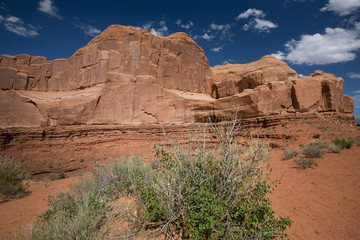
[[[4,27],[7,31],[23,37],[39,36],[39,33],[37,31],[38,29],[40,29],[40,27],[26,24],[18,17],[9,16],[7,18],[4,18],[0,15],[0,23],[4,24]]]

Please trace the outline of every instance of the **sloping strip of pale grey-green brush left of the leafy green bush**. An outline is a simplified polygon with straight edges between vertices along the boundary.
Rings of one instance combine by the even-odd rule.
[[[68,193],[48,199],[49,210],[34,223],[28,239],[108,239],[118,214],[111,201],[131,192],[133,180],[150,168],[136,157],[98,166],[93,176],[81,178]]]

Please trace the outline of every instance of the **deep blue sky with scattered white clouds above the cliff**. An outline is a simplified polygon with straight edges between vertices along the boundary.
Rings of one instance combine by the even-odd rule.
[[[111,24],[186,32],[211,66],[273,54],[334,73],[360,119],[360,0],[0,0],[0,54],[69,58]]]

